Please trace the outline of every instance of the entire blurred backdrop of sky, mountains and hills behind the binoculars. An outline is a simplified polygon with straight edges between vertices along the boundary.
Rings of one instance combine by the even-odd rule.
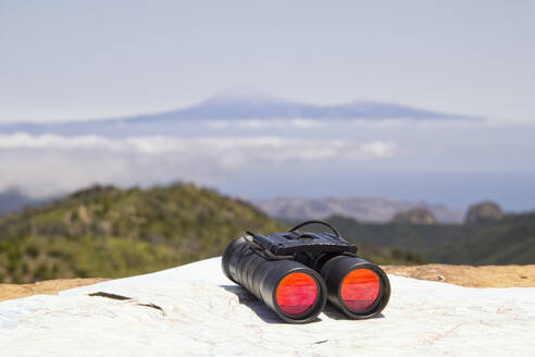
[[[535,262],[535,1],[0,0],[0,282],[326,219],[380,263]]]

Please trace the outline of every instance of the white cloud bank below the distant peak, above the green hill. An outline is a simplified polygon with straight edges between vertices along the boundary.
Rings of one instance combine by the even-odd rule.
[[[396,151],[394,141],[381,140],[17,133],[0,135],[0,190],[17,186],[43,197],[92,183],[129,186],[182,180],[216,186],[249,169],[327,160],[382,160]]]

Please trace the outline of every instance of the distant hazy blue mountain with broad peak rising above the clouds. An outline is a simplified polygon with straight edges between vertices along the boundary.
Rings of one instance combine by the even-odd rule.
[[[0,125],[0,134],[61,134],[88,135],[107,134],[169,134],[182,132],[172,124],[196,123],[199,121],[239,120],[461,120],[474,121],[480,118],[441,113],[380,101],[354,101],[350,103],[316,106],[261,95],[216,96],[189,108],[162,113],[134,115],[116,119],[62,123],[22,123]]]

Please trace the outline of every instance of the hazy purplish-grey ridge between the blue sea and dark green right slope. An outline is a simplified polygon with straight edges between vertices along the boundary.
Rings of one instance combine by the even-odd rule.
[[[384,197],[315,198],[278,197],[259,199],[253,204],[274,218],[297,221],[344,216],[368,222],[387,222],[401,211],[425,208],[440,222],[462,222],[464,212],[444,205],[422,201],[395,201]]]

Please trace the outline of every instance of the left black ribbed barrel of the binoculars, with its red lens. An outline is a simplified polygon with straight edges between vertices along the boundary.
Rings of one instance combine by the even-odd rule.
[[[226,247],[222,266],[228,279],[264,301],[284,321],[310,322],[325,306],[327,290],[318,272],[294,260],[264,258],[245,237]]]

